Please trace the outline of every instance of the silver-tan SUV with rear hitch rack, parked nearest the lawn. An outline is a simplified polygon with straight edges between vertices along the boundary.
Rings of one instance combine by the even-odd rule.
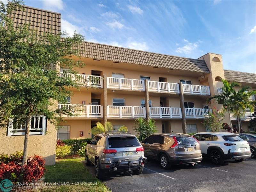
[[[95,165],[95,175],[105,172],[128,171],[132,176],[141,174],[146,158],[139,140],[124,132],[105,132],[87,141],[85,164]]]

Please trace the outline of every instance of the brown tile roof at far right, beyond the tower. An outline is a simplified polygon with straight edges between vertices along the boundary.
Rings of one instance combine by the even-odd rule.
[[[224,69],[224,76],[225,76],[225,79],[228,81],[256,84],[255,73],[245,73],[240,71],[231,71],[231,70]]]

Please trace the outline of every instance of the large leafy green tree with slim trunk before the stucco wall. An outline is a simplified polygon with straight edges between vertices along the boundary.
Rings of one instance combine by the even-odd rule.
[[[63,115],[72,115],[67,109],[58,109],[57,103],[66,103],[71,91],[66,87],[79,85],[67,75],[61,78],[60,64],[76,76],[73,67],[83,67],[80,60],[68,55],[77,55],[84,37],[65,32],[53,35],[51,32],[38,35],[38,32],[23,24],[14,28],[8,15],[22,10],[22,1],[13,0],[9,5],[0,2],[0,127],[7,127],[14,119],[16,125],[25,125],[25,138],[22,164],[28,159],[28,142],[31,116],[44,115],[48,122],[57,125]],[[65,37],[65,38],[62,38]],[[9,123],[8,123],[9,122]]]

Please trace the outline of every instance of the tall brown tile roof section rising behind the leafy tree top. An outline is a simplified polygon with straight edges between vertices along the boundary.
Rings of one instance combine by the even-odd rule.
[[[17,10],[9,16],[13,19],[14,27],[30,23],[30,28],[41,34],[52,30],[53,34],[60,33],[60,13],[50,12],[22,5],[24,10]]]

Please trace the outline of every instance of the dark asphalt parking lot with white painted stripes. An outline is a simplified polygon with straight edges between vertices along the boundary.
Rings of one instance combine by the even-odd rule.
[[[94,175],[94,166],[89,167]],[[128,173],[107,174],[102,180],[113,191],[255,191],[256,159],[244,162],[225,162],[214,165],[203,160],[194,167],[172,166],[169,170],[160,167],[157,161],[149,160],[141,175],[130,177]]]

